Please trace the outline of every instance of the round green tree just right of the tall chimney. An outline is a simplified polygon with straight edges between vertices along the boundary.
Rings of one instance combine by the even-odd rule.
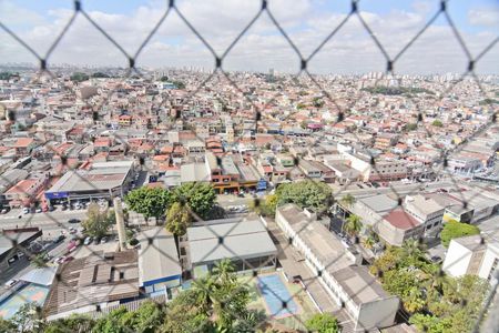
[[[142,186],[130,191],[125,196],[130,210],[149,218],[161,219],[172,204],[172,193],[166,189]]]

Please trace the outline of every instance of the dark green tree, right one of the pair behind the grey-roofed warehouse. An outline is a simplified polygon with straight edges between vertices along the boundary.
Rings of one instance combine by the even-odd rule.
[[[186,203],[198,218],[206,220],[216,202],[216,193],[208,183],[185,183],[173,191],[173,201]]]

